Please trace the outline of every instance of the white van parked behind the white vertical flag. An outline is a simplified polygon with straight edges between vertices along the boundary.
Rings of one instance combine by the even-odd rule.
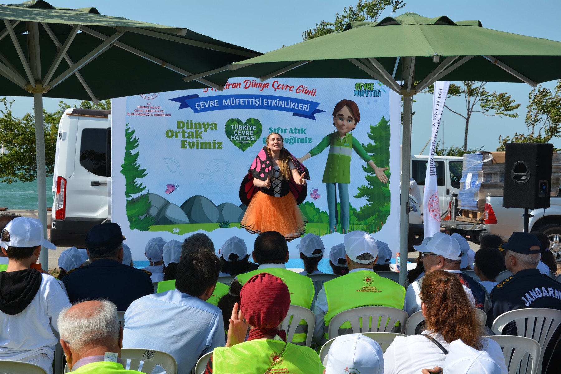
[[[425,186],[426,164],[429,156],[411,156],[411,178],[419,184],[422,193]],[[459,181],[462,179],[463,157],[434,156],[436,164],[436,183],[438,184],[438,200],[440,213],[448,210],[452,193],[458,193]],[[423,186],[423,187],[421,187]]]

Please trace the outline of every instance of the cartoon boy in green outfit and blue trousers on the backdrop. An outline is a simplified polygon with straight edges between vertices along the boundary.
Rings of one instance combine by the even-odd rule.
[[[339,184],[339,200],[341,201],[341,228],[343,229],[343,233],[348,232],[348,185],[351,182],[350,167],[352,149],[355,150],[361,159],[370,165],[381,183],[388,182],[388,177],[384,174],[384,170],[388,170],[388,168],[377,167],[360,142],[352,136],[351,131],[355,130],[358,122],[360,122],[360,111],[355,101],[339,101],[333,109],[333,126],[337,128],[337,131],[333,131],[333,133],[324,137],[314,149],[298,159],[303,163],[311,156],[320,154],[329,146],[329,155],[327,156],[327,164],[325,164],[322,182],[326,184],[325,187],[327,188],[330,232],[337,231],[337,214],[335,213],[337,208],[337,191],[335,191],[335,185],[337,183]]]

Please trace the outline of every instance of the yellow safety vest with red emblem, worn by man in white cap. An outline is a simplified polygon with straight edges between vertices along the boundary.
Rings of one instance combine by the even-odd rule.
[[[328,307],[324,317],[326,341],[329,322],[337,313],[359,307],[403,309],[405,300],[405,288],[402,285],[369,270],[355,271],[329,280],[323,284],[323,287]],[[339,329],[351,329],[350,322],[345,322]]]

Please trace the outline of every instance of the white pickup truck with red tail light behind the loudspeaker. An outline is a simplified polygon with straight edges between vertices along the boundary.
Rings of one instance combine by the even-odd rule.
[[[502,196],[485,198],[485,230],[507,241],[515,231],[522,231],[523,209],[503,207]],[[561,196],[551,196],[547,209],[530,210],[530,232],[541,232],[549,237],[550,250],[561,262]]]

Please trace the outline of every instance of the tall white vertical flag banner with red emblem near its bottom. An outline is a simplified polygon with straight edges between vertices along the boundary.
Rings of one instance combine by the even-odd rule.
[[[425,191],[423,193],[425,238],[440,232],[440,204],[438,201],[438,184],[436,183],[434,154],[436,152],[436,136],[438,136],[440,118],[442,118],[442,109],[444,109],[444,102],[446,101],[449,86],[449,81],[437,81],[434,83],[433,130],[431,133],[429,162],[426,164]]]

